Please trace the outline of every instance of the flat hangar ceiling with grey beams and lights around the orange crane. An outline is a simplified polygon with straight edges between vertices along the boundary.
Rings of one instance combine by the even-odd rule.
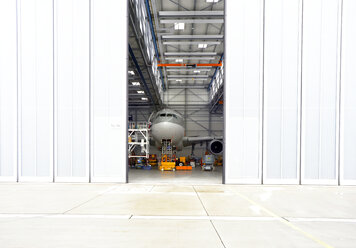
[[[224,4],[152,0],[162,64],[216,64],[223,53]],[[163,67],[167,88],[208,88],[216,67]]]

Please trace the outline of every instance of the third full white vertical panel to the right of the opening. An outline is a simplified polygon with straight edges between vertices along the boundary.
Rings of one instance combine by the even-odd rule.
[[[339,0],[304,1],[302,183],[338,182]]]

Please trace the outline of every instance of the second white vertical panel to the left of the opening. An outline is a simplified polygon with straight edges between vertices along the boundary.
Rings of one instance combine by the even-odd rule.
[[[55,181],[89,181],[89,1],[55,1]]]

